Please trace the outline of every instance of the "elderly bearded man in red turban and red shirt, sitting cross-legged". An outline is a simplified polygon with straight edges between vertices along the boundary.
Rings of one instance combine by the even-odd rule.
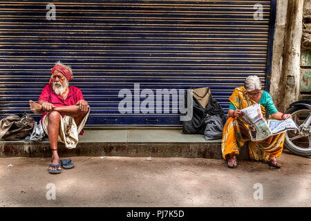
[[[41,92],[38,103],[29,101],[33,113],[42,113],[41,125],[50,140],[52,164],[50,173],[61,173],[64,168],[73,167],[73,163],[62,160],[59,163],[57,142],[63,142],[66,148],[75,148],[78,135],[83,134],[83,127],[90,113],[90,107],[84,100],[81,90],[69,86],[73,77],[72,70],[58,61],[51,70],[50,82]]]

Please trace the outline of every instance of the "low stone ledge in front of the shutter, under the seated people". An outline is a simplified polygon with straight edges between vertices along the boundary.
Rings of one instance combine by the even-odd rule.
[[[184,135],[181,130],[86,130],[79,138],[77,148],[59,143],[59,155],[222,159],[221,140],[205,141],[204,135]],[[0,141],[0,157],[50,157],[50,144]],[[238,159],[249,159],[247,148]]]

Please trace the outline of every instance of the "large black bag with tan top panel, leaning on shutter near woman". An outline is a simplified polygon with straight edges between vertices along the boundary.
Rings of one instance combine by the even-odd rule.
[[[209,87],[188,89],[193,96],[193,116],[189,121],[182,122],[182,133],[204,134],[210,116],[218,115],[223,121],[224,111],[216,99],[211,96]],[[185,108],[187,108],[187,94],[185,93]],[[187,115],[187,113],[183,114]]]

